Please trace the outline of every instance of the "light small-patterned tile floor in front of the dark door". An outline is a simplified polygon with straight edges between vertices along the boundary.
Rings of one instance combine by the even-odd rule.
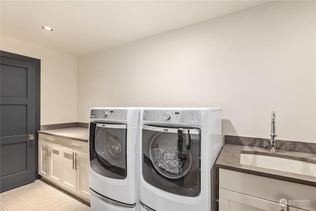
[[[0,193],[0,211],[90,211],[78,197],[38,179]]]

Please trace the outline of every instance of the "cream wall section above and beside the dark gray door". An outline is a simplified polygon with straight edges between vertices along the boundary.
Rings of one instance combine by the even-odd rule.
[[[1,35],[0,49],[40,59],[40,125],[77,122],[77,58]]]

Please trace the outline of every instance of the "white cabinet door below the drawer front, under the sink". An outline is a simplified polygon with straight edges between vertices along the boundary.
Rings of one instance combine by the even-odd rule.
[[[286,205],[219,188],[220,211],[287,211]]]

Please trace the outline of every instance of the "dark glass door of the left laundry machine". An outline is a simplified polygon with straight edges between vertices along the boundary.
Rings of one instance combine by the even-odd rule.
[[[95,123],[89,150],[94,171],[110,178],[126,177],[126,132],[125,124]]]

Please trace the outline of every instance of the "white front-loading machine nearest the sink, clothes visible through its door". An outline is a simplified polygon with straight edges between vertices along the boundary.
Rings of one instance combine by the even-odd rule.
[[[144,108],[140,113],[140,209],[215,210],[218,178],[211,169],[222,147],[221,109]]]

